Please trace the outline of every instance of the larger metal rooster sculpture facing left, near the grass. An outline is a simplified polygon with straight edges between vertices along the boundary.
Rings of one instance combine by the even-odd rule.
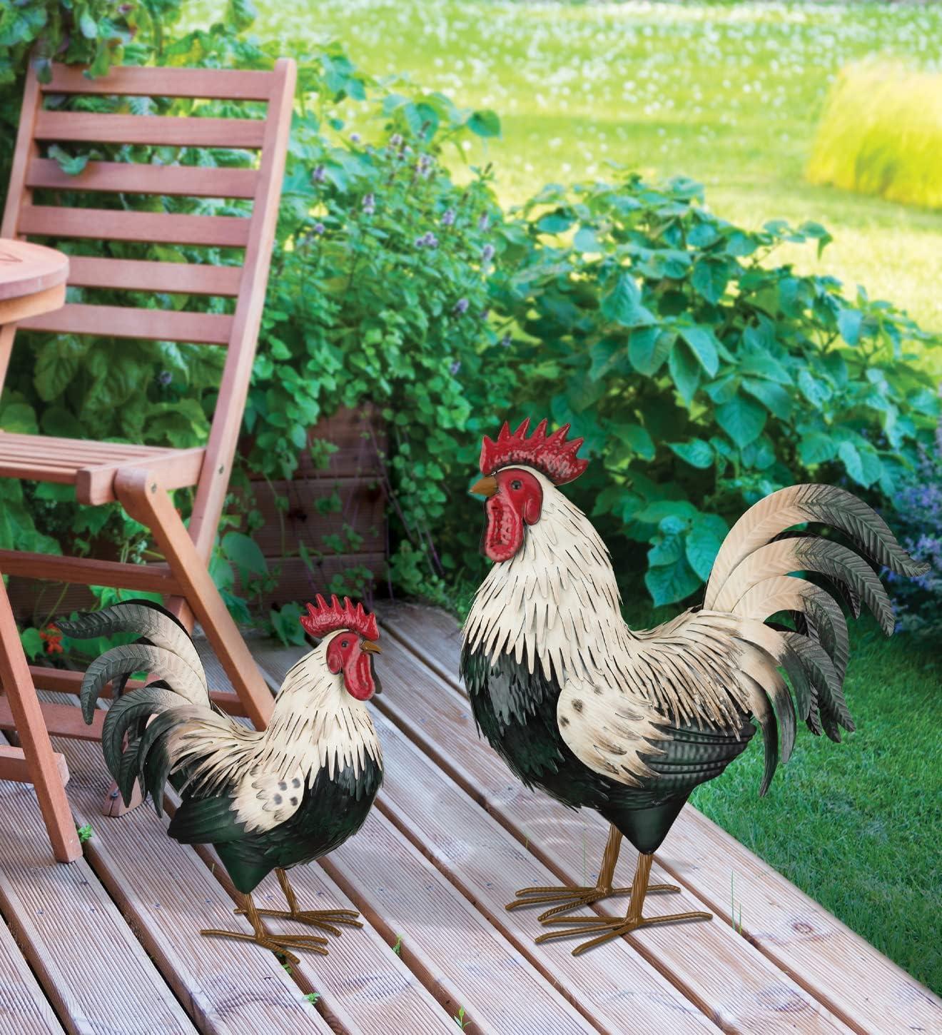
[[[702,608],[654,629],[621,617],[615,572],[586,515],[559,491],[588,466],[568,424],[547,435],[529,420],[497,441],[484,438],[483,549],[495,562],[463,630],[461,672],[478,730],[528,787],[611,824],[598,881],[583,888],[524,888],[508,909],[553,906],[539,917],[568,929],[549,941],[592,936],[584,952],[637,927],[709,919],[708,913],[645,917],[653,853],[690,792],[745,750],[756,727],[765,745],[765,794],[787,762],[797,716],[815,734],[840,740],[853,730],[842,683],[848,631],[842,608],[796,572],[841,586],[855,617],[861,599],[889,634],[893,614],[871,566],[817,535],[783,537],[805,522],[840,529],[880,564],[907,575],[924,567],[883,520],[843,489],[794,485],[761,500],[726,537]],[[791,612],[795,629],[764,624]],[[784,669],[792,692],[779,674]],[[794,694],[794,702],[792,694]],[[622,836],[639,852],[630,889],[614,888]],[[561,917],[580,906],[629,893],[625,916]]]

